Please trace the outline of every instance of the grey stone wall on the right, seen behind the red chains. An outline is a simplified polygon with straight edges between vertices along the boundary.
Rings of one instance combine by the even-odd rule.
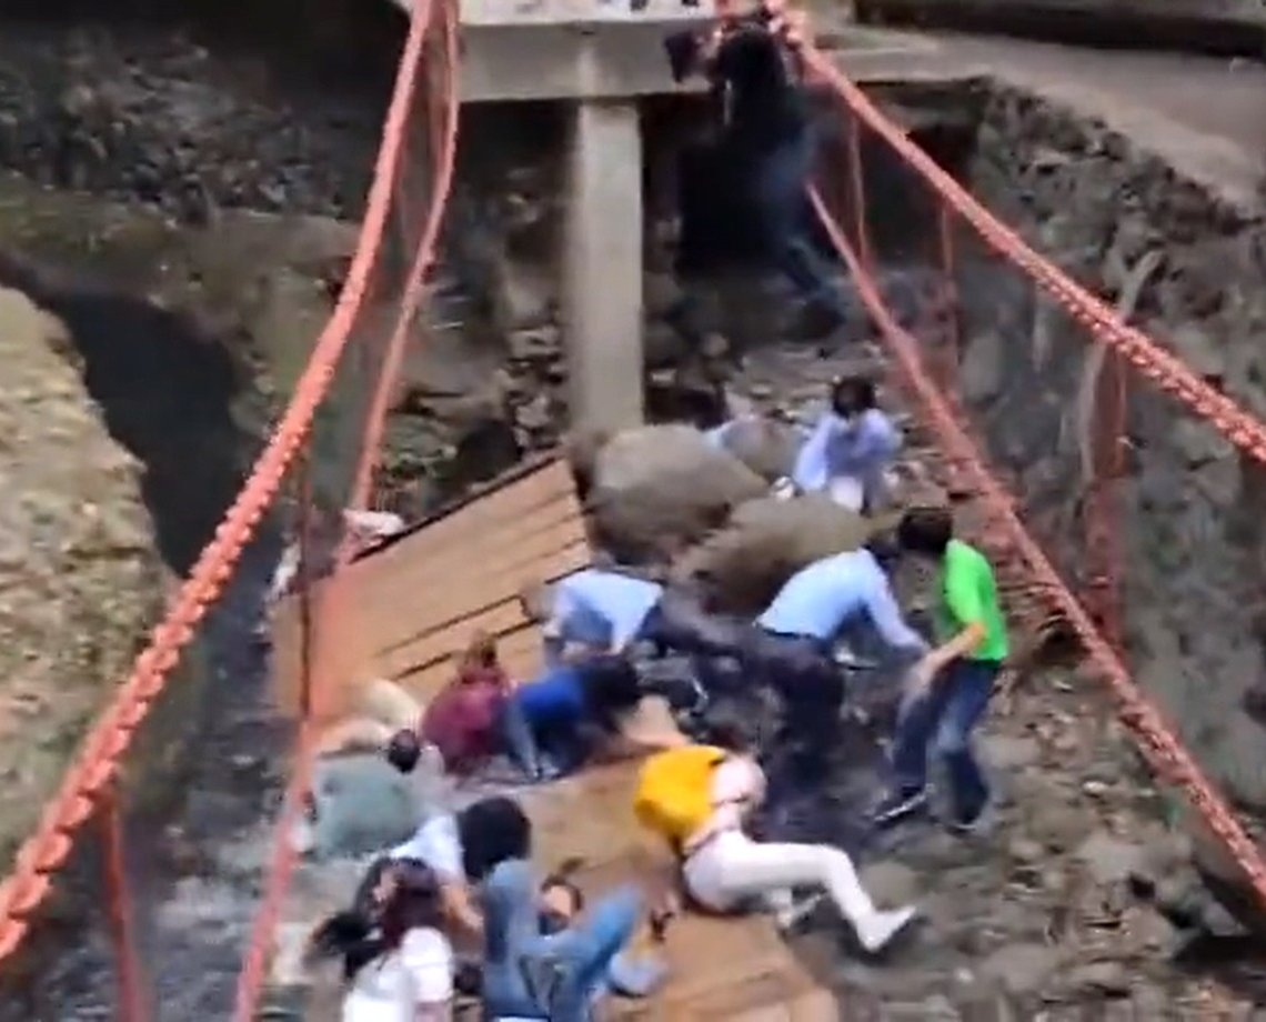
[[[1128,139],[1008,90],[986,105],[968,177],[1038,251],[1132,304],[1144,331],[1266,417],[1261,208],[1231,208]],[[1137,301],[1122,296],[1132,276]],[[1034,534],[1084,581],[1086,333],[979,251],[960,286],[963,394]],[[1128,380],[1128,660],[1215,780],[1263,807],[1263,733],[1244,699],[1266,683],[1266,466],[1138,374]]]

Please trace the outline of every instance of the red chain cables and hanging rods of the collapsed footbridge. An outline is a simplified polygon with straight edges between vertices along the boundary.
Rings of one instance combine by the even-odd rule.
[[[1119,719],[1136,737],[1157,779],[1186,797],[1266,907],[1266,860],[1179,740],[1176,729],[1134,683],[1127,666],[1122,641],[1124,567],[1119,499],[1127,395],[1132,389],[1152,389],[1167,395],[1177,405],[1179,414],[1217,431],[1242,452],[1246,462],[1255,465],[1266,462],[1266,424],[1129,327],[1114,309],[999,223],[885,118],[827,56],[810,47],[805,57],[813,82],[830,94],[844,125],[844,144],[836,153],[838,160],[824,167],[819,190],[814,190],[812,198],[893,356],[898,382],[942,448],[955,485],[972,491],[987,512],[987,542],[996,545],[1008,569],[1025,577],[1050,609],[1076,632],[1096,675],[1115,698]],[[129,1022],[152,1014],[146,962],[137,947],[134,907],[123,865],[127,828],[120,808],[120,779],[129,756],[135,755],[134,737],[151,709],[165,698],[182,653],[233,581],[243,551],[266,517],[284,512],[296,524],[300,541],[306,543],[318,515],[344,507],[372,507],[380,498],[376,458],[405,346],[418,329],[453,177],[460,105],[457,72],[458,15],[454,5],[447,0],[418,0],[382,130],[360,242],[337,309],[246,486],[138,657],[132,675],[91,728],[37,833],[22,849],[11,875],[0,885],[0,962],[11,962],[38,926],[41,908],[72,852],[87,835],[97,832],[105,850],[103,861],[119,978],[116,1016]],[[908,320],[899,319],[885,294],[880,272],[882,255],[876,251],[868,229],[865,194],[862,152],[874,146],[885,147],[900,160],[910,180],[931,200],[928,208],[934,209],[927,237],[929,261],[939,268],[939,287],[928,308],[920,312],[922,319],[934,327],[928,336],[937,337],[938,344],[927,343],[922,331],[910,329]],[[398,236],[392,232],[401,229],[409,251],[404,258],[396,258],[392,246]],[[1087,360],[1095,360],[1096,371],[1087,389],[1093,448],[1087,462],[1093,477],[1081,515],[1085,529],[1082,561],[1087,570],[1086,581],[1077,586],[1080,591],[1065,583],[1051,557],[1032,537],[1023,502],[1008,493],[987,467],[976,442],[979,431],[972,428],[970,409],[960,395],[957,342],[963,317],[956,281],[960,280],[960,263],[968,252],[976,257],[989,253],[998,265],[1022,274],[1046,300],[1080,324]],[[384,317],[384,309],[391,314]],[[348,388],[361,399],[357,414],[323,415],[334,394]],[[318,464],[316,452],[325,450],[349,450],[354,456],[342,466],[346,471],[330,472],[328,466]],[[318,476],[322,476],[319,483]],[[568,528],[572,526],[575,522]],[[443,543],[453,543],[452,548],[460,550],[458,537],[460,529],[451,529]],[[433,537],[427,548],[433,552],[436,542],[441,541]],[[568,533],[558,550],[565,552],[567,566],[577,566],[584,561],[582,534]],[[272,931],[294,866],[292,845],[285,835],[300,811],[311,766],[313,738],[319,727],[339,712],[341,683],[346,681],[348,671],[365,657],[380,652],[368,650],[362,656],[348,652],[356,646],[347,623],[356,618],[348,608],[358,605],[375,586],[385,584],[381,572],[357,570],[353,565],[356,552],[352,538],[344,537],[322,584],[308,585],[308,580],[303,580],[303,599],[289,622],[292,674],[299,681],[295,766],[277,823],[275,857],[257,922],[244,949],[234,1013],[242,1022],[254,1017],[265,985]],[[305,562],[310,560],[304,558]],[[460,603],[456,595],[453,599]],[[509,598],[503,594],[500,599]],[[441,602],[434,610],[432,617],[438,623],[460,617],[456,603],[448,607]],[[515,622],[510,627],[522,631],[525,624]],[[527,648],[523,647],[523,653],[529,657]],[[610,790],[619,790],[619,784],[613,788],[611,783],[605,783],[604,790],[604,798],[610,798]],[[585,804],[587,812],[591,804]],[[547,807],[542,812],[557,809]],[[704,1017],[679,1007],[680,1011],[674,1008],[670,1017]],[[817,1011],[809,1007],[794,1017],[823,1017],[815,1014]],[[730,1011],[727,1017],[737,1016]]]

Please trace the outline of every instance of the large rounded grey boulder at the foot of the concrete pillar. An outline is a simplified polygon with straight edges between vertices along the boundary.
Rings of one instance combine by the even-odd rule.
[[[761,476],[689,426],[618,433],[592,458],[587,483],[595,538],[630,564],[698,542],[767,489]]]

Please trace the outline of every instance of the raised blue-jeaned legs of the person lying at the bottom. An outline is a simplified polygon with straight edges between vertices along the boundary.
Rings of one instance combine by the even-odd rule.
[[[642,898],[624,888],[557,933],[541,927],[541,884],[527,860],[501,862],[484,885],[484,1017],[589,1022],[611,962],[633,937]]]

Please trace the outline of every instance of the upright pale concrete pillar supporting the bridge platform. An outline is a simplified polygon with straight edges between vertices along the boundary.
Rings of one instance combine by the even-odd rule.
[[[571,422],[636,426],[642,386],[642,127],[636,100],[572,108],[562,258]]]

